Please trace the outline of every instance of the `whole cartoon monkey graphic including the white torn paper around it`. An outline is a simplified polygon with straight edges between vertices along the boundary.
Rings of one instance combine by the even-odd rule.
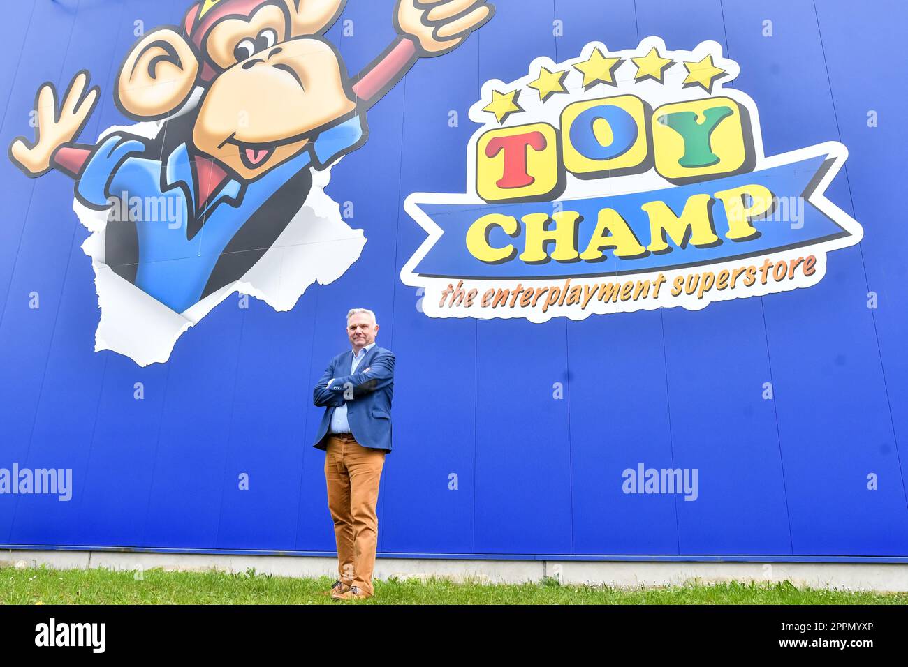
[[[80,142],[101,93],[82,70],[64,93],[38,86],[35,132],[9,150],[29,178],[74,180],[102,311],[95,348],[143,366],[234,291],[291,309],[357,260],[362,231],[324,194],[331,165],[368,140],[366,114],[410,67],[494,14],[480,3],[429,21],[437,7],[399,2],[396,37],[350,73],[323,36],[342,0],[188,5],[179,28],[139,31],[114,78],[114,105],[137,124]]]

